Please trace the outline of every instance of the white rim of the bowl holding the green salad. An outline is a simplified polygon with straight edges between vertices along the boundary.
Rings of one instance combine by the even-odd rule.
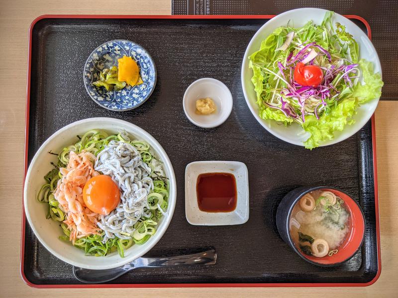
[[[251,72],[251,70],[249,69],[248,57],[253,52],[257,51],[257,49],[251,49],[251,47],[252,47],[253,43],[256,41],[256,39],[259,37],[259,35],[261,35],[262,31],[264,31],[266,28],[272,28],[271,31],[275,30],[279,26],[276,26],[274,24],[279,22],[281,19],[282,20],[285,19],[284,22],[287,23],[289,20],[291,20],[293,18],[293,17],[291,17],[292,15],[298,15],[298,16],[306,16],[305,18],[308,18],[306,21],[308,21],[311,19],[311,17],[308,17],[308,15],[309,16],[322,15],[322,18],[323,18],[323,15],[327,11],[328,10],[321,9],[321,8],[298,8],[298,9],[293,9],[293,10],[283,12],[283,13],[273,17],[268,22],[266,22],[252,37],[252,39],[249,42],[249,45],[246,48],[246,51],[245,51],[245,54],[243,57],[242,69],[241,69],[241,84],[242,84],[243,94],[244,94],[246,103],[247,103],[251,113],[256,118],[256,120],[261,124],[261,126],[264,127],[269,133],[271,133],[275,137],[277,137],[285,142],[288,142],[288,143],[294,144],[294,145],[298,145],[298,146],[304,146],[302,140],[298,140],[296,138],[289,138],[286,134],[281,134],[281,133],[278,133],[277,131],[275,131],[266,122],[266,120],[260,118],[260,116],[258,115],[258,112],[257,112],[257,110],[258,110],[257,104],[255,106],[253,104],[251,104],[250,98],[249,98],[249,96],[250,96],[249,90],[245,86],[245,73],[247,71]],[[366,40],[369,41],[369,44],[367,44],[367,46],[372,49],[372,51],[375,55],[375,59],[374,59],[375,60],[374,61],[375,69],[374,70],[375,70],[375,72],[380,72],[380,74],[382,74],[382,68],[381,68],[379,57],[377,55],[375,47],[373,46],[372,42],[369,40],[368,36],[355,23],[353,23],[348,18],[346,18],[338,13],[335,13],[334,17],[336,17],[336,16],[339,16],[344,20],[344,21],[341,20],[341,23],[343,25],[346,25],[346,26],[349,25],[351,28],[352,28],[352,26],[355,26],[360,31],[359,34],[361,35],[361,38],[365,38]],[[273,26],[275,26],[275,28]],[[347,28],[347,31],[350,32],[350,29]],[[358,42],[358,44],[360,46],[360,51],[361,51],[361,45],[363,45],[363,42],[358,39],[356,39],[356,41]],[[360,58],[362,58],[362,55],[360,55]],[[254,90],[254,87],[253,87],[253,90]],[[363,110],[367,110],[366,117],[358,118],[358,117],[354,116],[354,119],[356,121],[356,123],[354,124],[355,126],[354,125],[346,125],[342,132],[336,132],[338,134],[338,136],[336,136],[333,140],[328,140],[328,141],[322,142],[320,144],[320,147],[336,144],[336,143],[344,141],[345,139],[348,139],[352,135],[356,134],[372,117],[373,113],[376,110],[378,102],[379,102],[379,98],[374,99],[371,102],[368,102],[368,103],[362,105],[361,107],[359,107],[358,110],[361,108]],[[301,131],[304,132],[304,130],[302,128],[301,128]]]

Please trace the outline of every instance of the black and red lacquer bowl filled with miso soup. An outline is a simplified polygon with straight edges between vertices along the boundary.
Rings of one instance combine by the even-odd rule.
[[[365,218],[357,201],[329,186],[289,192],[278,206],[276,222],[282,239],[302,259],[323,267],[352,258],[365,236]]]

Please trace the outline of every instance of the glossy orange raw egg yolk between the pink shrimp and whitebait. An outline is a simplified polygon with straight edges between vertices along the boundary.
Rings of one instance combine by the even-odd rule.
[[[98,175],[87,181],[83,200],[93,212],[108,215],[120,202],[120,191],[108,175]]]

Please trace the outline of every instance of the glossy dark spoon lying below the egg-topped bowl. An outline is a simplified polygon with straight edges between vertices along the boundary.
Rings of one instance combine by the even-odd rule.
[[[115,278],[129,272],[130,270],[140,267],[166,267],[176,265],[214,265],[217,260],[217,253],[214,249],[207,250],[191,255],[182,255],[165,258],[138,258],[123,265],[112,269],[93,270],[73,266],[73,274],[75,277],[86,284],[99,284],[109,282]]]

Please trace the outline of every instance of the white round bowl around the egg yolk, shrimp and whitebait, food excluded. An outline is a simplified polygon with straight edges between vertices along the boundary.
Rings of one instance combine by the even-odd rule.
[[[48,151],[58,152],[65,146],[76,142],[76,135],[83,135],[91,129],[101,129],[108,133],[118,133],[125,130],[129,135],[148,142],[156,155],[163,161],[166,176],[170,179],[170,197],[167,216],[164,216],[157,226],[156,233],[144,244],[133,245],[121,258],[117,252],[105,257],[86,256],[84,251],[70,243],[58,239],[62,235],[59,222],[46,219],[47,206],[36,200],[37,192],[45,182],[44,175],[52,169],[51,161],[56,162],[56,156]],[[57,258],[74,266],[89,269],[109,269],[122,266],[142,256],[149,251],[162,237],[172,219],[176,205],[176,178],[173,166],[165,150],[146,131],[126,121],[112,118],[89,118],[74,122],[53,134],[34,155],[26,174],[23,204],[26,219],[36,237],[43,246]]]

